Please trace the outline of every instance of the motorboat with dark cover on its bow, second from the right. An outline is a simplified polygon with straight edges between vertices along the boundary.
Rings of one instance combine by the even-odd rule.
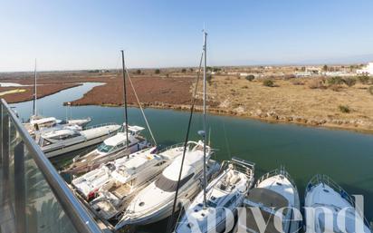
[[[244,199],[244,207],[238,212],[234,232],[294,233],[300,229],[300,211],[293,210],[300,209],[298,189],[283,168],[263,175]],[[257,214],[262,214],[265,226],[257,225]]]

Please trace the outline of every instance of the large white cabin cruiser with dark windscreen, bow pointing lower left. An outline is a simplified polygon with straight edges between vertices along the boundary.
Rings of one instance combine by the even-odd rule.
[[[201,189],[204,168],[204,142],[189,141],[178,189],[178,204],[193,199]],[[182,148],[181,154],[184,152]],[[219,170],[219,164],[209,160],[212,150],[206,146],[206,174],[211,179]],[[177,191],[177,180],[183,156],[177,157],[158,177],[131,200],[116,229],[127,225],[145,225],[167,218],[172,214]],[[157,198],[155,198],[157,197]],[[177,209],[176,209],[177,210]]]

